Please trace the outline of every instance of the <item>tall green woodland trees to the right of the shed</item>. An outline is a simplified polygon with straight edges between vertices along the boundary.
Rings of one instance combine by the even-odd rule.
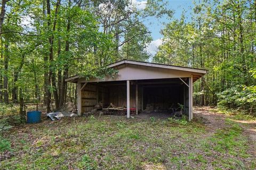
[[[227,106],[229,102],[233,108],[255,112],[255,4],[235,4],[229,0],[195,2],[191,21],[183,14],[165,25],[163,44],[153,61],[207,69],[207,75],[194,84],[196,104],[217,105],[219,101]]]

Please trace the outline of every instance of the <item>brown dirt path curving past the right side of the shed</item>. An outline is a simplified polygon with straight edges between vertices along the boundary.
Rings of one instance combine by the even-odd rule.
[[[256,157],[256,120],[236,120],[234,116],[223,115],[210,111],[209,107],[196,108],[194,115],[201,119],[209,127],[210,132],[214,133],[217,129],[225,128],[225,119],[229,118],[241,125],[243,135],[248,137],[251,155]]]

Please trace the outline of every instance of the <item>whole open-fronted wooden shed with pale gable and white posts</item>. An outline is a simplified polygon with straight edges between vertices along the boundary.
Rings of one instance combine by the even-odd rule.
[[[139,112],[149,107],[170,110],[182,106],[183,112],[193,119],[193,83],[206,74],[206,70],[171,66],[132,60],[122,60],[108,66],[118,72],[103,79],[73,76],[66,82],[77,83],[78,115],[96,106],[127,108],[125,113]],[[129,109],[128,109],[129,108]]]

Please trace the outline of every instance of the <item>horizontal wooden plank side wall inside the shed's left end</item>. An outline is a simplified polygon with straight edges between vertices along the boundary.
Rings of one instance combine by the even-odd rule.
[[[97,86],[88,83],[82,91],[82,113],[91,111],[97,104]]]

